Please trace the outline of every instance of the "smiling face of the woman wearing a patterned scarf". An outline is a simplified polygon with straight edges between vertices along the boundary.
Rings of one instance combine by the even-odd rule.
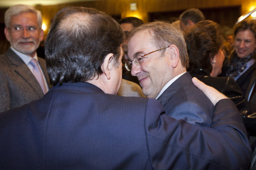
[[[256,41],[251,30],[239,31],[235,37],[235,50],[239,58],[244,58],[254,52]]]

